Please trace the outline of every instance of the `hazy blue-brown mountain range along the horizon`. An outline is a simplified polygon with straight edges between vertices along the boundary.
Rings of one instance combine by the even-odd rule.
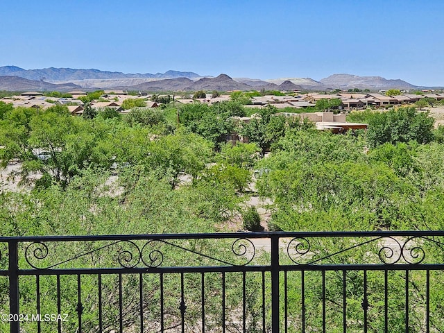
[[[99,69],[45,68],[22,69],[0,67],[0,90],[58,90],[128,89],[149,92],[196,90],[309,90],[331,89],[416,89],[404,80],[387,80],[380,76],[334,74],[316,81],[312,78],[275,78],[267,80],[230,78],[221,74],[216,78],[200,76],[191,71],[167,71],[164,74],[124,74]]]

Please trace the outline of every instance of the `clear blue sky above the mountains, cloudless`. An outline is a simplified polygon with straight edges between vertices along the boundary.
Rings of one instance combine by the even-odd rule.
[[[443,0],[3,0],[0,66],[444,86]]]

